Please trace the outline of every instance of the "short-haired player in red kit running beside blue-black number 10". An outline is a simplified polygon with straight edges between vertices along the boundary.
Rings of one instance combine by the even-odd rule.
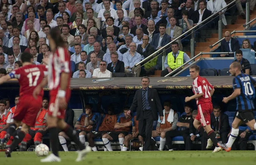
[[[194,80],[192,90],[195,95],[186,97],[185,102],[189,102],[193,99],[196,100],[198,105],[198,115],[195,117],[194,126],[198,131],[206,131],[208,137],[212,143],[216,146],[213,152],[221,151],[222,148],[218,146],[218,140],[215,138],[216,135],[211,128],[210,114],[212,113],[212,95],[214,93],[214,87],[210,84],[206,78],[199,76],[200,67],[193,65],[189,67],[189,74]]]

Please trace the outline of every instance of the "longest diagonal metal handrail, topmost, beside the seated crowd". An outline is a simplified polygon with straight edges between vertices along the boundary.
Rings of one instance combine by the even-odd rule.
[[[236,0],[233,0],[231,3],[229,3],[227,6],[221,8],[219,11],[217,11],[215,14],[212,14],[210,17],[208,17],[207,19],[203,20],[202,22],[200,22],[199,24],[197,24],[196,26],[194,26],[193,28],[189,29],[188,31],[186,31],[185,33],[181,34],[180,36],[178,36],[176,39],[174,39],[173,41],[169,42],[169,44],[163,46],[162,48],[160,48],[159,50],[157,50],[156,52],[154,52],[153,54],[151,54],[150,56],[148,56],[147,58],[145,58],[144,60],[142,60],[141,62],[139,62],[138,64],[135,64],[134,67],[137,67],[139,64],[142,64],[143,62],[147,61],[148,59],[150,59],[152,56],[156,55],[157,53],[159,53],[160,51],[162,51],[163,49],[167,50],[169,48],[169,45],[172,45],[173,42],[177,41],[178,39],[182,38],[183,36],[186,36],[186,34],[189,34],[191,31],[193,31],[194,29],[198,28],[200,25],[206,23],[208,20],[212,19],[213,17],[219,15],[219,12],[222,12],[225,8],[228,8],[230,6],[233,5],[233,3],[235,3]]]

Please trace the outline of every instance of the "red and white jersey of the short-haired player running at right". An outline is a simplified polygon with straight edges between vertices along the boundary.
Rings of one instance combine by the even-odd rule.
[[[204,93],[204,95],[201,96],[200,98],[196,98],[197,105],[201,103],[212,102],[210,91],[213,88],[214,87],[212,86],[212,84],[210,84],[206,78],[203,78],[201,76],[198,76],[197,78],[195,78],[195,80],[193,81],[193,87],[192,87],[194,94]]]

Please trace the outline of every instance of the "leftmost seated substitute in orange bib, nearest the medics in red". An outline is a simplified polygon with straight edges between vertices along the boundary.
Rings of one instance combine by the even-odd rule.
[[[88,134],[90,131],[94,131],[94,129],[96,128],[97,122],[98,122],[98,117],[96,115],[93,115],[91,105],[86,105],[85,113],[82,113],[79,116],[75,125],[76,134],[79,136],[79,140],[82,144],[85,143],[86,134]],[[65,139],[69,139],[69,138],[64,132],[60,132],[58,137],[64,151],[66,151],[67,144]]]

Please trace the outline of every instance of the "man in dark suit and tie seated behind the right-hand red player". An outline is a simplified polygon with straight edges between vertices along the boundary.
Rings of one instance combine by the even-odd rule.
[[[213,114],[211,114],[211,127],[216,134],[216,138],[221,138],[223,143],[227,143],[230,125],[228,115],[221,113],[218,105],[213,106]],[[205,145],[204,145],[205,146]],[[216,147],[216,146],[215,146]],[[207,140],[207,149],[212,148],[212,140]]]

